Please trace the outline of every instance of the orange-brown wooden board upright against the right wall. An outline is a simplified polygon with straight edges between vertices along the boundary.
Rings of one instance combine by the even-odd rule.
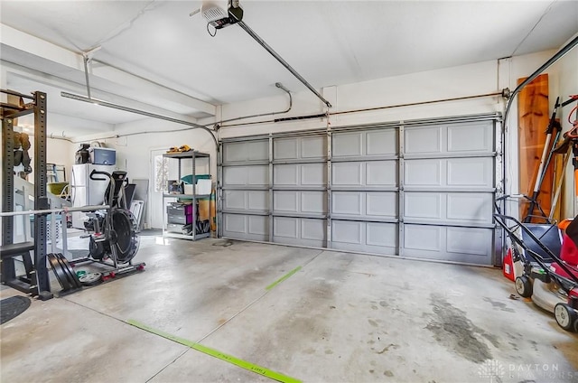
[[[518,79],[518,84],[525,79]],[[550,122],[548,103],[548,75],[541,74],[520,91],[517,96],[517,139],[519,153],[519,189],[532,196],[540,158],[545,145],[545,130]],[[554,136],[552,137],[554,140]],[[554,161],[545,173],[537,201],[549,214],[553,197]],[[527,203],[520,204],[520,217],[527,215]],[[534,214],[539,214],[536,210]],[[533,220],[536,221],[536,220]]]

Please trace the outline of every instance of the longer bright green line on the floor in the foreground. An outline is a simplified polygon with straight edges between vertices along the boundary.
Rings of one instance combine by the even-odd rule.
[[[299,267],[299,268],[301,268],[301,267]],[[289,277],[289,276],[287,276],[287,277]],[[154,329],[153,327],[147,326],[144,323],[137,322],[137,321],[134,321],[132,319],[129,319],[126,322],[130,325],[133,325],[133,326],[141,329],[141,330],[144,330],[145,332],[151,332],[151,333],[154,333],[155,335],[162,336],[163,338],[166,338],[168,340],[176,341],[177,343],[181,343],[184,346],[191,347],[191,349],[193,349],[193,350],[198,350],[202,353],[210,355],[211,357],[217,358],[219,360],[224,360],[228,363],[234,364],[234,365],[240,367],[241,369],[247,369],[249,371],[255,372],[256,374],[263,375],[266,378],[271,378],[271,379],[274,379],[276,381],[283,382],[283,383],[300,383],[301,382],[301,380],[299,380],[299,379],[287,377],[286,375],[283,375],[279,372],[273,371],[271,369],[266,369],[265,367],[257,366],[256,364],[250,363],[246,360],[240,360],[238,358],[235,358],[232,355],[228,355],[228,354],[225,354],[223,352],[220,352],[219,350],[214,350],[214,349],[211,349],[210,347],[203,346],[200,343],[195,343],[194,341],[189,341],[189,340],[186,340],[184,338],[180,338],[180,337],[172,335],[168,332],[163,332],[163,331]]]

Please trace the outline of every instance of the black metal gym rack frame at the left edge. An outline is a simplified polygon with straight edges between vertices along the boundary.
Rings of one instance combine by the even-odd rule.
[[[34,210],[49,209],[46,191],[46,93],[25,95],[0,89],[1,93],[32,100],[23,106],[2,103],[2,211],[14,211],[14,118],[34,115]],[[52,298],[46,266],[46,215],[34,217],[34,241],[14,244],[14,216],[2,217],[2,283],[42,300]],[[33,251],[33,257],[30,252]],[[16,276],[14,257],[23,257],[26,275]]]

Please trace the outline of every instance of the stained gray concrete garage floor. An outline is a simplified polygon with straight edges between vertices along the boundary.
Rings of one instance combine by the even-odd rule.
[[[306,382],[578,382],[578,336],[497,269],[141,240],[144,272],[0,327],[2,382],[271,381],[128,320]]]

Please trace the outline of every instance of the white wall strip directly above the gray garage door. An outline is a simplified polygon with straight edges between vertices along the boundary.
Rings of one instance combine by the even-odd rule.
[[[544,51],[500,61],[484,61],[443,70],[430,70],[386,79],[331,87],[323,89],[323,95],[328,98],[332,104],[330,112],[342,112],[360,108],[396,106],[406,103],[444,98],[461,98],[499,92],[504,88],[515,89],[518,78],[531,74],[554,53],[555,51]],[[550,73],[550,82],[554,84],[551,86],[551,91],[555,93],[557,92],[557,86],[555,85],[557,84],[557,73],[553,70],[549,70],[548,72]],[[318,98],[315,98],[308,90],[292,90],[300,90],[294,93],[293,109],[285,115],[275,115],[274,117],[306,116],[326,111],[326,107],[324,107],[322,102]],[[273,112],[284,107],[286,107],[286,96],[281,94],[276,98],[257,99],[236,105],[224,106],[221,109],[221,118],[228,119],[231,117],[265,113],[267,111]],[[504,107],[504,98],[495,96],[336,115],[331,116],[329,122],[331,126],[348,126],[404,119],[502,112]],[[516,115],[516,113],[513,115]],[[227,127],[228,124],[270,120],[274,117],[252,118],[225,123],[219,135],[220,137],[258,135],[288,130],[323,128],[327,126],[327,120],[320,118],[317,120]],[[200,121],[201,124],[209,122],[210,119]],[[511,121],[511,124],[515,123],[515,120]]]

